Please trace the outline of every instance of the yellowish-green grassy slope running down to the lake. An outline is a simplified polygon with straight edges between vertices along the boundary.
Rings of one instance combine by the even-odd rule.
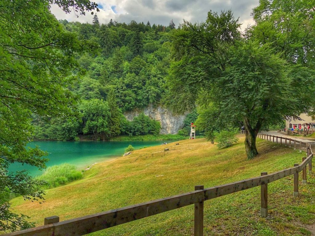
[[[221,149],[204,138],[136,150],[131,155],[95,165],[84,178],[47,191],[44,204],[15,198],[15,211],[43,224],[46,216],[61,220],[115,209],[143,201],[259,176],[300,163],[305,153],[258,140],[261,153],[246,160],[240,142]],[[169,152],[163,149],[168,147]],[[163,175],[163,176],[162,176]],[[300,185],[293,198],[291,177],[268,185],[269,214],[259,216],[260,188],[252,188],[205,202],[204,235],[310,235],[302,227],[315,219],[315,176]],[[300,175],[301,181],[301,175]],[[193,206],[165,212],[106,229],[95,235],[193,235]]]

